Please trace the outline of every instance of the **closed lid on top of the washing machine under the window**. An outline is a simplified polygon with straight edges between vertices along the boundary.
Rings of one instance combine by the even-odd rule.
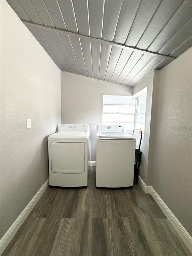
[[[99,132],[100,140],[134,140],[134,137],[124,132]]]

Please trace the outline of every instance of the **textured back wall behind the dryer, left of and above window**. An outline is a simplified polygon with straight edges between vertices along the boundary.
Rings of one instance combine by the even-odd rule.
[[[132,95],[132,88],[61,72],[62,123],[90,126],[91,161],[95,161],[96,126],[102,123],[103,95]]]

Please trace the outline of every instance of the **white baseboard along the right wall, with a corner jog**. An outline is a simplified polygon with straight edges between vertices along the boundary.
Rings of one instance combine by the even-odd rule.
[[[164,203],[164,201],[161,199],[161,197],[158,195],[158,193],[155,191],[155,189],[152,186],[146,186],[145,182],[141,179],[139,176],[138,183],[142,187],[143,191],[146,194],[151,194],[155,202],[158,204],[159,208],[162,210],[162,212],[165,214],[167,219],[170,221],[172,226],[175,228],[187,248],[192,253],[192,237],[187,232],[187,230],[182,226],[182,224],[179,222],[179,220],[176,218],[176,216],[173,214],[173,212],[169,209],[169,207]]]

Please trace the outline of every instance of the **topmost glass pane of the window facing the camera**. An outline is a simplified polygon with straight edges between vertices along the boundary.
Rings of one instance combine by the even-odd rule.
[[[131,96],[103,96],[103,104],[135,104],[135,98]]]

